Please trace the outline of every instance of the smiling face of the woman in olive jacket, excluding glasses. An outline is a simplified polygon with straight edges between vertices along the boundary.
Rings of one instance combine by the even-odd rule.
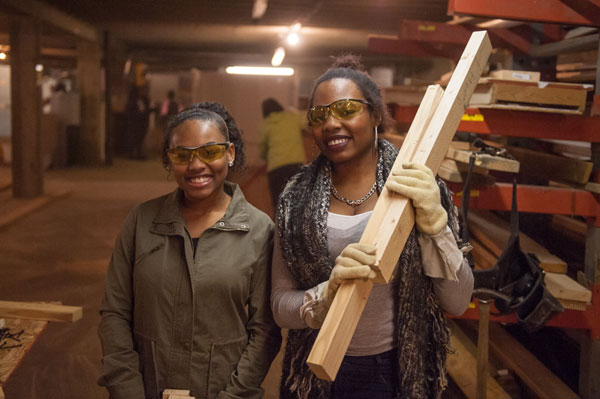
[[[208,143],[227,141],[212,121],[190,119],[173,130],[170,148],[198,147]],[[202,201],[219,194],[227,178],[228,163],[233,162],[235,150],[229,145],[225,155],[205,163],[193,157],[188,164],[171,163],[171,170],[179,187],[185,193],[186,201]]]

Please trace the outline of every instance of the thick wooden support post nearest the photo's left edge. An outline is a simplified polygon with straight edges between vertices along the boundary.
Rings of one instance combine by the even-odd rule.
[[[41,91],[35,70],[39,48],[39,23],[32,17],[11,16],[12,182],[15,197],[37,197],[44,192]]]

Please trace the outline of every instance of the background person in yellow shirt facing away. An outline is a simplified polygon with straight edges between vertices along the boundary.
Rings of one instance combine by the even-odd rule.
[[[275,208],[285,184],[305,162],[302,130],[306,126],[306,117],[284,110],[273,98],[262,102],[262,112],[260,156],[267,161],[269,189]]]

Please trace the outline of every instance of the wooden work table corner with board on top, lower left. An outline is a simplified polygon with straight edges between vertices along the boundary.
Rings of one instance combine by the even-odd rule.
[[[0,399],[2,386],[35,342],[48,321],[75,322],[82,317],[79,306],[60,303],[0,301],[0,320],[5,334],[0,340]]]

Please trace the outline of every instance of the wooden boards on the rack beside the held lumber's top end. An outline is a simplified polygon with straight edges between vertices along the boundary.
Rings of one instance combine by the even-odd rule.
[[[538,72],[494,71],[481,78],[469,106],[582,114],[592,85],[542,82]]]

